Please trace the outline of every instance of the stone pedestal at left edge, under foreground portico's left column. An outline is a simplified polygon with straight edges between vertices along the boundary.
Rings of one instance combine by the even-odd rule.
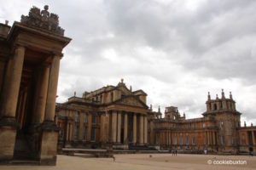
[[[10,163],[13,159],[16,132],[16,127],[0,126],[0,164]]]

